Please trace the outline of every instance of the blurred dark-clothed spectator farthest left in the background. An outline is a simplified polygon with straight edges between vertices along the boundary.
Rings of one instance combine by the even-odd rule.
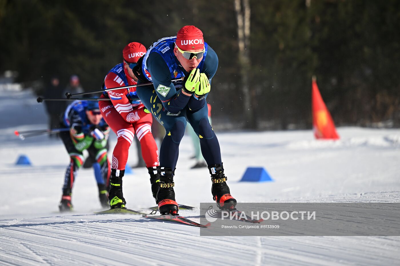
[[[56,76],[50,79],[50,84],[44,91],[44,97],[47,99],[60,98],[62,89],[60,86],[60,79]],[[64,111],[62,105],[58,101],[45,101],[46,111],[49,117],[49,129],[56,129],[60,124],[60,115]],[[57,137],[55,134],[50,134],[49,137]]]

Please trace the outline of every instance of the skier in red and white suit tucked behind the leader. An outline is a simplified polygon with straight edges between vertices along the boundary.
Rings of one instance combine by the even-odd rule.
[[[103,89],[135,85],[137,77],[132,68],[138,59],[146,54],[146,48],[138,42],[131,42],[122,51],[124,62],[114,66],[104,79]],[[100,111],[106,123],[118,137],[112,154],[110,191],[108,199],[111,208],[125,208],[126,201],[122,195],[122,177],[128,160],[128,150],[134,135],[140,141],[142,157],[150,174],[152,194],[156,198],[160,179],[159,153],[151,133],[152,115],[144,107],[136,94],[136,87],[104,92],[101,98],[110,101],[99,101]]]

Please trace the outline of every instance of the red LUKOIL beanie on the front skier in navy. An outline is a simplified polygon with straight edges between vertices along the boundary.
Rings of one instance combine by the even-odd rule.
[[[184,51],[203,50],[203,33],[195,26],[184,26],[176,34],[175,43],[181,50]]]

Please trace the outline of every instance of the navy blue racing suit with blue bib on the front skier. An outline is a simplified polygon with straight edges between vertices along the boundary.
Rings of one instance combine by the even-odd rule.
[[[194,95],[181,93],[183,81],[172,81],[188,75],[173,53],[176,37],[167,37],[154,43],[143,57],[141,72],[153,85],[140,86],[136,92],[152,115],[160,122],[166,135],[160,147],[160,166],[175,169],[179,144],[185,133],[186,122],[192,125],[200,138],[202,155],[207,165],[221,165],[218,139],[208,121],[206,97],[198,100]],[[212,82],[218,68],[218,56],[205,45],[205,52],[198,65]],[[138,84],[146,81],[139,80]]]

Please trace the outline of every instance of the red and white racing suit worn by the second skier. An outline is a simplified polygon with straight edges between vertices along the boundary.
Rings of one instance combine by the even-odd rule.
[[[124,68],[128,85],[135,85],[134,81]],[[124,83],[113,72],[108,73],[104,79],[106,88],[122,87]],[[136,91],[136,87],[129,88]],[[133,142],[134,135],[140,141],[142,157],[146,167],[159,165],[159,153],[156,141],[151,133],[152,115],[144,112],[143,103],[130,103],[127,95],[128,89],[108,91],[108,95],[102,94],[100,98],[110,98],[111,101],[99,101],[100,112],[118,137],[112,153],[112,169],[124,170],[128,161],[128,150]],[[115,99],[120,98],[120,99]]]

